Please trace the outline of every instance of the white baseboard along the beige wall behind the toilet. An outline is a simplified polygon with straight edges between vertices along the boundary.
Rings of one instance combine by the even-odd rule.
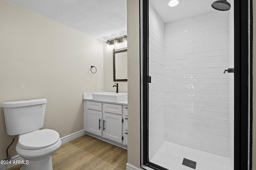
[[[75,133],[72,133],[70,135],[67,135],[67,136],[64,136],[61,139],[61,145],[65,144],[65,143],[68,143],[78,137],[81,137],[83,135],[85,135],[86,132],[84,130],[81,130],[81,131],[78,131],[78,132],[75,132]],[[11,158],[11,162],[14,162],[16,160],[24,160],[22,157],[20,157],[20,155],[16,155],[16,156],[12,156]],[[1,163],[1,162],[0,162]],[[7,168],[10,168],[12,166],[15,166],[16,164],[0,164],[0,170],[6,170]]]

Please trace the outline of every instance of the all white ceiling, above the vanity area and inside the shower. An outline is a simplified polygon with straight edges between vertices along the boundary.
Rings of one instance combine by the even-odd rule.
[[[102,41],[127,34],[126,0],[8,0]],[[215,0],[150,0],[164,23],[184,20],[206,12]],[[230,0],[228,0],[229,2]]]

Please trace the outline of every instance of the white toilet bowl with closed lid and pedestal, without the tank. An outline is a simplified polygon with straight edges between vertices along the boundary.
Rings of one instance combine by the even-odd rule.
[[[60,147],[58,132],[42,129],[19,136],[18,154],[28,160],[21,170],[52,170],[51,155]]]

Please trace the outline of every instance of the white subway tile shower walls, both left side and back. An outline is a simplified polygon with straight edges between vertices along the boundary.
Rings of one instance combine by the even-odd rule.
[[[234,74],[223,72],[234,67],[234,18],[214,11],[163,23],[149,11],[149,159],[169,141],[232,160]]]

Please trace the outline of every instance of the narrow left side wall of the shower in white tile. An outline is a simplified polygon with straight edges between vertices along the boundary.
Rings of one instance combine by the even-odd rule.
[[[149,7],[149,160],[164,141],[164,23]]]

